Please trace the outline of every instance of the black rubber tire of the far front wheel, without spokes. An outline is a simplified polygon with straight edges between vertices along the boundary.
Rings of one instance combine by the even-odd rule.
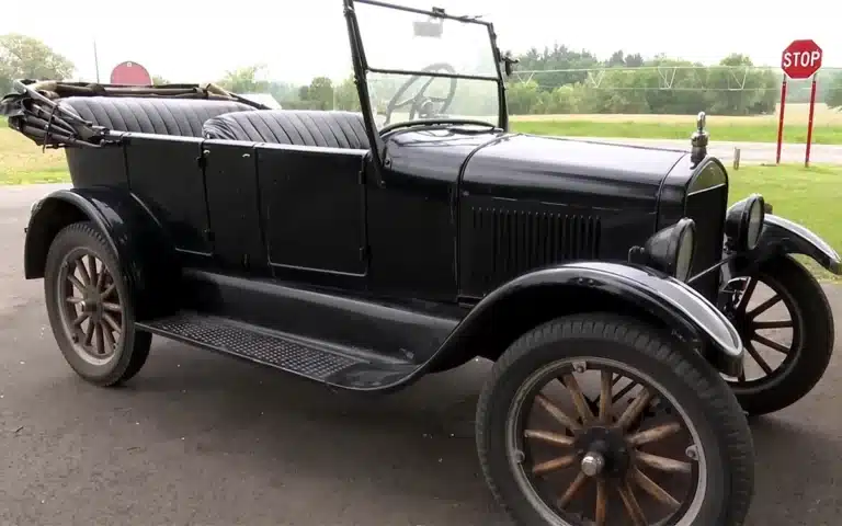
[[[761,263],[753,277],[781,295],[787,308],[792,306],[796,325],[789,354],[771,375],[746,382],[728,379],[746,412],[761,415],[794,404],[816,387],[833,354],[834,327],[833,311],[821,285],[792,256]],[[739,321],[735,324],[740,327]]]

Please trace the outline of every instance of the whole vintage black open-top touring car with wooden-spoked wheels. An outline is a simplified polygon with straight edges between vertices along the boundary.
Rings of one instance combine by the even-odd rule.
[[[66,148],[72,188],[33,206],[24,262],[70,366],[128,380],[156,334],[385,393],[485,357],[479,460],[517,524],[741,524],[746,413],[804,397],[833,346],[794,256],[839,255],[760,195],[728,207],[703,116],[689,151],[513,134],[490,23],[344,10],[356,113],[213,84],[4,99]]]

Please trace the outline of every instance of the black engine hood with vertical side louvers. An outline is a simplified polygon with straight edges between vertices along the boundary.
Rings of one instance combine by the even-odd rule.
[[[459,186],[459,294],[522,273],[628,258],[655,229],[658,188],[682,152],[507,136],[474,155]]]

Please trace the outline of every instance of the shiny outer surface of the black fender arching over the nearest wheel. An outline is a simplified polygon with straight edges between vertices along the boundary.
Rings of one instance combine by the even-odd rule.
[[[568,302],[565,312],[578,312],[577,304],[589,293],[615,298],[615,305],[644,311],[691,342],[720,371],[742,371],[742,341],[728,319],[689,285],[655,270],[621,263],[578,262],[522,275],[486,296],[454,329],[432,358],[446,361],[455,347],[471,340],[482,324],[501,323],[507,310],[498,308],[525,290],[551,287],[554,301]],[[598,305],[596,308],[600,308]],[[704,345],[707,344],[707,345]],[[714,351],[714,352],[710,352]]]

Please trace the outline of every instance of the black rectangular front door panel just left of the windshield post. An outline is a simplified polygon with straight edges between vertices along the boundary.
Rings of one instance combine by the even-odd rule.
[[[276,277],[366,273],[368,150],[262,144],[255,148],[260,209]]]

